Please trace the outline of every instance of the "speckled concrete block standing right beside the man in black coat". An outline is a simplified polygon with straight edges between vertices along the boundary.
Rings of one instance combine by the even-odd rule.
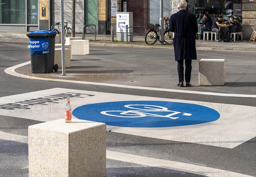
[[[199,85],[224,85],[225,59],[201,59],[199,61]]]

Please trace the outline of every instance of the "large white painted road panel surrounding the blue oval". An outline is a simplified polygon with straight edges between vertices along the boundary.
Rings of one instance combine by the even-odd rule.
[[[54,99],[56,95],[63,93],[60,99],[52,102],[38,104],[46,98]],[[1,109],[1,115],[20,117],[24,119],[33,119],[38,121],[51,121],[64,118],[64,107],[66,106],[65,94],[79,93],[81,96],[70,98],[71,107],[85,104],[94,104],[102,102],[119,102],[119,101],[166,101],[198,104],[212,108],[219,112],[220,118],[214,122],[208,122],[197,125],[186,125],[177,127],[163,128],[131,128],[107,126],[108,130],[117,133],[125,133],[135,136],[145,136],[157,139],[166,139],[172,142],[178,141],[186,144],[196,143],[199,145],[212,145],[222,148],[235,148],[238,145],[255,137],[255,107],[242,106],[234,104],[220,104],[209,102],[197,102],[178,99],[163,99],[156,97],[124,95],[116,93],[93,92],[86,90],[73,90],[64,88],[54,88],[40,90],[31,93],[6,96],[0,98],[1,105],[31,103],[30,109],[15,108],[12,110]],[[55,96],[53,96],[55,95]],[[88,96],[94,95],[94,96]],[[92,105],[93,106],[93,105]],[[24,108],[24,107],[23,107]],[[192,108],[186,108],[188,113],[192,113]],[[102,110],[101,110],[102,111]]]

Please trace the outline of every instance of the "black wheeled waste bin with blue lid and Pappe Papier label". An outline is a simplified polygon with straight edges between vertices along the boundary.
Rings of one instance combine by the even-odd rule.
[[[40,30],[27,34],[30,41],[32,73],[52,73],[58,71],[54,65],[56,31]]]

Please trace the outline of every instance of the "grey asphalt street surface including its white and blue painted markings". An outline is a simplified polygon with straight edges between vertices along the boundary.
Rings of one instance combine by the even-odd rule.
[[[61,69],[29,72],[27,45],[0,44],[1,177],[29,176],[27,128],[63,118],[65,100],[29,111],[6,104],[64,93],[80,94],[71,98],[78,119],[87,104],[139,105],[137,119],[99,116],[107,124],[108,177],[256,176],[255,53],[198,51],[193,86],[180,88],[173,50],[90,47],[90,55],[73,55],[62,76]],[[226,59],[224,86],[198,85],[201,58]]]

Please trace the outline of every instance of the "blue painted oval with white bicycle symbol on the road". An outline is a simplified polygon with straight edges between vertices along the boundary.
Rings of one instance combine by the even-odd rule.
[[[162,101],[122,101],[86,104],[73,110],[78,119],[118,127],[160,128],[195,125],[218,120],[209,107]]]

